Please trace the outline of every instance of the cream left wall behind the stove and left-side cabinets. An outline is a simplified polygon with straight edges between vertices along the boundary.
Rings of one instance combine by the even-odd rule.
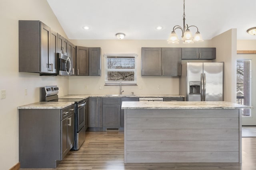
[[[0,89],[6,90],[6,99],[0,99],[0,169],[8,170],[19,162],[17,106],[39,102],[45,85],[58,85],[60,95],[68,94],[68,77],[18,72],[18,20],[41,20],[66,35],[46,0],[2,0],[0,6]]]

